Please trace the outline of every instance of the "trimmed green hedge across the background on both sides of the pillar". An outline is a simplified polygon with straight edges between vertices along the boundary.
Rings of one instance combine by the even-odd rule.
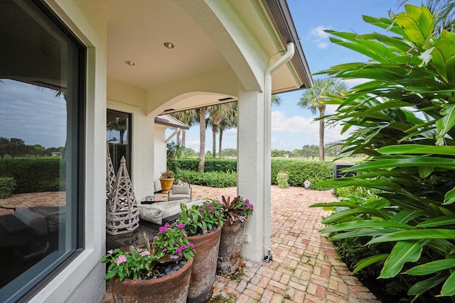
[[[184,159],[178,160],[181,170],[188,170],[197,172],[198,171],[198,159]],[[205,173],[208,172],[236,172],[237,171],[237,160],[235,159],[221,159],[215,160],[210,159],[205,161]],[[289,185],[295,187],[303,187],[304,182],[309,180],[311,183],[320,182],[323,180],[328,180],[333,178],[333,171],[335,165],[332,162],[314,162],[314,161],[304,161],[298,159],[272,159],[272,184],[277,184],[277,173],[279,170],[288,170],[289,171]],[[187,172],[185,172],[187,173]],[[191,176],[193,180],[199,180],[200,177],[197,177],[197,174]],[[214,177],[215,179],[220,180],[218,175]],[[203,177],[204,182],[210,184],[215,184],[214,180],[207,181],[209,179],[208,175]],[[220,180],[223,183],[222,180]],[[193,183],[193,182],[192,182]],[[193,183],[196,184],[196,183]],[[202,184],[201,184],[202,185]],[[212,186],[212,185],[208,185]],[[235,185],[229,185],[235,186]],[[214,186],[216,187],[216,186]]]

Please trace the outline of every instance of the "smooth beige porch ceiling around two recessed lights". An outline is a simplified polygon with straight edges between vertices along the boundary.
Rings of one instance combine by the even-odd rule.
[[[173,1],[106,1],[107,75],[142,89],[218,70],[228,63]],[[171,42],[173,49],[163,43]],[[132,60],[134,66],[125,64]]]

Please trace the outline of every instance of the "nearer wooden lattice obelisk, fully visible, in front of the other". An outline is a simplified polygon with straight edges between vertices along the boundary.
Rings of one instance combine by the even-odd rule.
[[[112,199],[106,207],[106,232],[111,235],[129,233],[139,227],[139,207],[129,179],[126,160],[120,160]]]

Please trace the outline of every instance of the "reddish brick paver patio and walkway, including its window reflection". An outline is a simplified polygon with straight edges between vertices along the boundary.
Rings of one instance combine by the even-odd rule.
[[[193,199],[234,197],[237,192],[235,187],[192,187]],[[28,195],[3,199],[2,205],[33,206],[38,194]],[[40,204],[64,204],[62,193],[40,195]],[[272,262],[244,260],[242,274],[217,275],[210,302],[380,302],[353,277],[346,265],[338,260],[333,245],[319,233],[323,228],[321,220],[329,213],[309,206],[333,199],[330,191],[272,186]],[[113,302],[107,284],[103,303]]]

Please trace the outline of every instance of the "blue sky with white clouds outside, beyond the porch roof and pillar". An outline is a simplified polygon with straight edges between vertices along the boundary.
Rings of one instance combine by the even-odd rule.
[[[346,62],[365,62],[367,58],[328,40],[324,29],[355,33],[371,33],[380,28],[370,26],[362,15],[387,17],[404,11],[397,0],[287,0],[300,42],[312,73]],[[420,5],[411,0],[408,4]],[[316,79],[316,76],[314,77]],[[353,86],[355,82],[348,83]],[[319,122],[314,122],[311,111],[297,106],[303,91],[279,94],[281,106],[272,106],[272,149],[294,150],[306,144],[319,145]],[[333,111],[333,109],[328,109]],[[346,135],[345,135],[346,136]],[[325,142],[342,138],[340,128],[327,128]],[[199,150],[199,128],[186,133],[186,147]],[[223,133],[223,149],[237,148],[237,130]],[[206,132],[205,150],[212,149],[211,130]],[[217,143],[218,152],[218,143]]]

